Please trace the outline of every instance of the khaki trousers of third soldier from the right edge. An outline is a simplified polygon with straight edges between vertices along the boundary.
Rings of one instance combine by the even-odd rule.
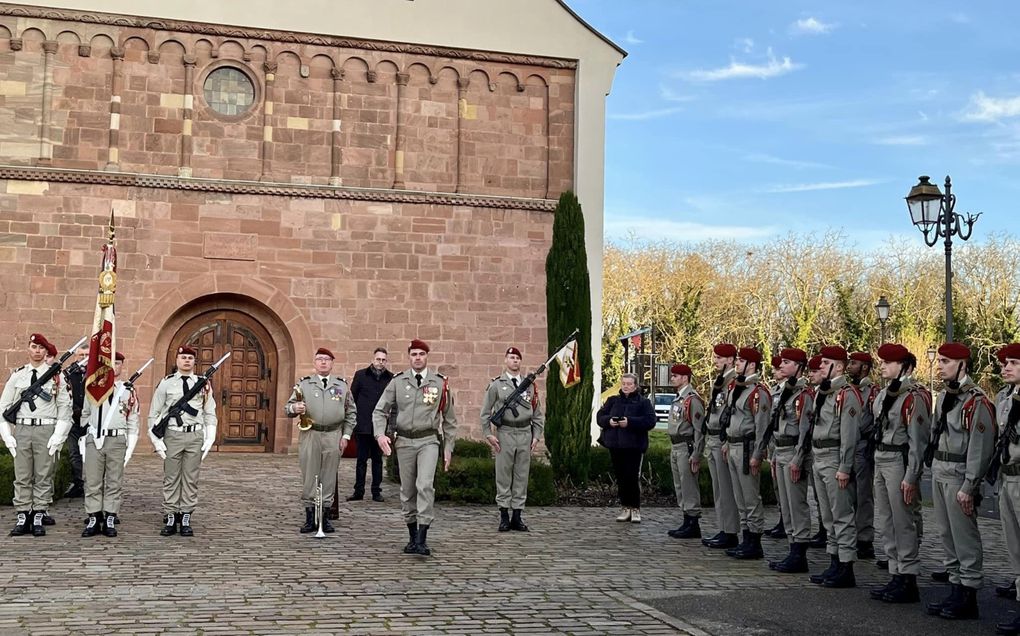
[[[882,533],[882,549],[889,562],[889,574],[921,572],[920,540],[914,524],[914,506],[903,502],[900,484],[906,468],[896,452],[875,454],[875,526]],[[915,500],[920,498],[918,492]]]

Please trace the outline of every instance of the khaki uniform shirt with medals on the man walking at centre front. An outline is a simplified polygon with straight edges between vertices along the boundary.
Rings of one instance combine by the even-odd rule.
[[[417,384],[415,373],[421,374],[421,386]],[[398,432],[437,431],[445,439],[447,450],[452,452],[457,436],[457,416],[453,392],[443,374],[428,373],[428,369],[417,372],[408,369],[393,376],[372,412],[376,437],[386,434],[387,419],[394,409],[397,410]]]

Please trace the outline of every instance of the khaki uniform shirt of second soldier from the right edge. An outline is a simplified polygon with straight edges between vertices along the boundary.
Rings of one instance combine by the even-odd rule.
[[[944,409],[948,389],[938,393],[933,427],[939,427],[946,412],[946,428],[938,438],[936,450],[962,455],[964,462],[946,462],[935,458],[931,474],[944,481],[963,480],[960,491],[974,494],[991,463],[996,448],[994,406],[984,391],[969,376],[960,381],[958,399],[948,411]]]

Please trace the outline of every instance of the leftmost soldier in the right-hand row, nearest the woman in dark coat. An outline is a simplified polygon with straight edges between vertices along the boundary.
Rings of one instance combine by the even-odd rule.
[[[698,473],[705,452],[705,403],[691,383],[691,367],[674,364],[669,368],[669,381],[676,398],[669,408],[669,466],[673,473],[676,505],[683,512],[683,524],[669,531],[675,539],[701,538],[701,488]]]

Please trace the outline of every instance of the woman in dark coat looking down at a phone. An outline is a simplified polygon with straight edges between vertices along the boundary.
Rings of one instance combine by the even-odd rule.
[[[648,431],[655,428],[655,408],[641,394],[638,376],[624,373],[620,392],[602,405],[596,416],[602,434],[599,443],[609,448],[623,512],[616,521],[641,523],[641,460],[648,449]]]

